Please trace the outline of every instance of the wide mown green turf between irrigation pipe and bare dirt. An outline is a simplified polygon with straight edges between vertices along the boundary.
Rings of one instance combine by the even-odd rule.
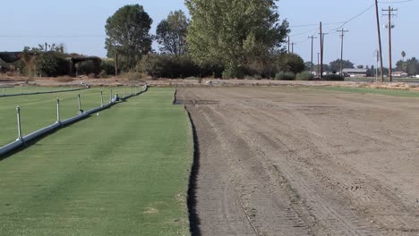
[[[173,94],[150,89],[0,161],[0,235],[189,235],[192,131]]]

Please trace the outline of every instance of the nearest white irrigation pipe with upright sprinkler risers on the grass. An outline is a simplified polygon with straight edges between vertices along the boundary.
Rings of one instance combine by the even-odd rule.
[[[144,88],[144,90],[142,90],[140,92],[137,92],[135,94],[130,94],[128,96],[121,97],[119,99],[124,101],[124,100],[126,100],[130,97],[139,96],[139,95],[141,95],[142,93],[146,92],[149,89],[147,85],[145,85],[143,88]],[[70,124],[74,123],[74,122],[79,122],[82,119],[90,116],[91,114],[98,113],[98,112],[100,112],[102,110],[105,110],[105,109],[107,109],[107,108],[109,108],[109,107],[111,107],[115,104],[118,104],[118,103],[119,102],[118,102],[117,99],[111,99],[111,101],[109,101],[109,103],[107,105],[100,105],[98,107],[90,109],[89,111],[85,111],[85,112],[82,112],[82,113],[80,113],[76,116],[73,116],[72,118],[66,119],[64,121],[60,121],[60,119],[59,119],[59,100],[57,100],[57,121],[55,123],[53,123],[53,124],[51,124],[51,125],[49,125],[45,128],[42,128],[38,131],[34,131],[34,132],[32,132],[32,133],[30,133],[26,136],[23,136],[23,137],[20,136],[20,137],[18,137],[18,139],[16,139],[12,143],[9,143],[9,144],[5,145],[4,147],[0,147],[0,156],[3,156],[3,155],[5,155],[5,154],[7,154],[7,153],[9,153],[13,150],[16,150],[17,148],[22,147],[23,145],[25,145],[27,143],[30,143],[31,141],[33,141],[35,139],[41,138],[41,137],[43,137],[44,135],[46,135],[47,133],[49,133],[51,131],[57,131],[57,130],[59,130],[59,129],[67,126],[67,125],[70,125]],[[18,111],[18,117],[19,117],[18,119],[20,119],[20,108],[19,108],[19,106],[16,108],[16,110]]]

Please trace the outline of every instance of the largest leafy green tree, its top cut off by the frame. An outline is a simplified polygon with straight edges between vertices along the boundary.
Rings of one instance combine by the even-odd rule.
[[[188,52],[195,63],[222,65],[225,77],[241,77],[285,41],[274,0],[185,0],[191,13]]]

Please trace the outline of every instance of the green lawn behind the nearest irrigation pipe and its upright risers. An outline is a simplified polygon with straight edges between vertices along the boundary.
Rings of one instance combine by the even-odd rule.
[[[0,97],[0,146],[17,138],[16,105],[21,107],[22,133],[28,135],[56,122],[56,98],[60,99],[61,120],[64,120],[78,113],[78,94],[81,94],[83,110],[99,106],[100,90],[104,91],[104,102],[108,103],[110,88],[84,89],[58,94]]]

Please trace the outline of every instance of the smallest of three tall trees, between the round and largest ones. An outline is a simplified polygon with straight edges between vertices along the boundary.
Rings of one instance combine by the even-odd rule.
[[[168,55],[186,54],[186,33],[188,30],[188,19],[182,11],[170,13],[167,19],[158,23],[156,39],[160,52]]]

